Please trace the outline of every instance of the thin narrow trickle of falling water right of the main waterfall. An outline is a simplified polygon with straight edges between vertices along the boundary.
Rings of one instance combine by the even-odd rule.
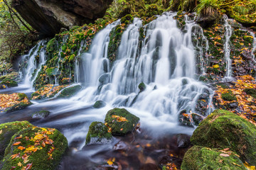
[[[225,60],[227,61],[227,71],[225,74],[225,79],[231,79],[232,78],[232,60],[230,59],[230,37],[232,35],[232,27],[230,26],[228,16],[224,15],[223,19],[225,21],[225,45],[224,45],[224,54],[225,54]]]

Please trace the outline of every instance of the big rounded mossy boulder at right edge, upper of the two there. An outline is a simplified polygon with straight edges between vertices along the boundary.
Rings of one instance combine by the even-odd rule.
[[[215,110],[193,132],[191,142],[211,148],[230,148],[243,162],[256,164],[256,127],[229,111]]]

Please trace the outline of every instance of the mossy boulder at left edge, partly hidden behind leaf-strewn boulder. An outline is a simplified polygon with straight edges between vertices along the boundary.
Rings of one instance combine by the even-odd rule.
[[[33,125],[28,121],[3,123],[0,125],[0,160],[4,157],[4,151],[9,145],[11,137],[18,131],[31,128]]]

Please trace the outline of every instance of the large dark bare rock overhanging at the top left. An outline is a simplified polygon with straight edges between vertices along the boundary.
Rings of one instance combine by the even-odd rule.
[[[112,0],[12,0],[12,6],[33,28],[53,36],[61,28],[95,21],[104,16]]]

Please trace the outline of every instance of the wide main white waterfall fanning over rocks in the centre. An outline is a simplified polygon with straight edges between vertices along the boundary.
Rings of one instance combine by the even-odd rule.
[[[196,81],[196,61],[191,40],[194,21],[186,18],[186,33],[176,26],[176,13],[165,13],[144,26],[145,38],[139,49],[142,21],[134,18],[124,33],[116,61],[110,67],[107,45],[112,23],[97,33],[89,52],[81,55],[76,72],[85,89],[73,101],[105,101],[112,107],[145,111],[162,120],[176,123],[178,113],[196,112],[196,102],[208,86]],[[146,89],[139,91],[144,82]],[[209,99],[210,101],[210,99]]]

